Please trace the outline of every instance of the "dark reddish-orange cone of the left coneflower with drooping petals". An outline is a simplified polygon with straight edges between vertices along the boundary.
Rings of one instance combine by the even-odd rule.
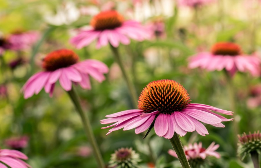
[[[55,71],[77,63],[79,57],[72,50],[61,49],[49,53],[43,60],[43,68],[46,71]]]

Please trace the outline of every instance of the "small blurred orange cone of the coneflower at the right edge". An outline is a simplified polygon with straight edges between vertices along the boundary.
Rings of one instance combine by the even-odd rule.
[[[213,55],[229,55],[229,56],[236,56],[242,53],[239,45],[230,42],[216,43],[215,45],[212,46],[211,52]]]

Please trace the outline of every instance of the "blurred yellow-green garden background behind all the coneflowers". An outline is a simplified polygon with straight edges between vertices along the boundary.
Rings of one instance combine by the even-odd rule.
[[[177,6],[174,0],[144,0],[142,3],[146,4],[139,7],[135,7],[132,0],[112,2],[115,4],[113,8],[125,19],[137,20],[144,25],[155,21],[164,24],[163,36],[119,45],[121,58],[137,94],[151,81],[173,79],[186,88],[192,103],[226,110],[234,108],[232,118],[235,119],[223,122],[225,128],[205,125],[209,135],[204,137],[189,132],[181,140],[184,145],[202,142],[204,147],[208,147],[213,141],[220,145],[217,151],[222,157],[210,158],[206,167],[253,167],[250,157],[241,160],[237,156],[238,138],[235,137],[233,122],[236,122],[238,134],[261,128],[261,93],[252,92],[252,88],[260,86],[260,76],[237,72],[231,78],[234,91],[231,96],[224,71],[191,70],[188,58],[199,51],[209,52],[211,46],[219,41],[237,43],[243,53],[255,53],[260,57],[261,2],[217,0],[195,8]],[[0,35],[9,36],[17,29],[35,30],[40,34],[32,48],[6,51],[2,56],[0,74],[0,85],[7,89],[7,94],[0,95],[0,148],[9,148],[5,140],[10,137],[27,135],[28,145],[21,151],[34,168],[97,167],[92,152],[87,150],[85,155],[79,152],[82,147],[91,147],[80,117],[59,82],[52,98],[44,90],[28,99],[24,99],[21,92],[30,76],[42,70],[41,61],[46,54],[61,48],[72,49],[80,60],[102,61],[110,69],[102,83],[91,78],[90,90],[75,85],[106,164],[118,148],[133,147],[140,154],[141,167],[148,167],[148,163],[153,162],[155,167],[181,167],[179,161],[167,153],[172,148],[169,141],[158,137],[153,129],[145,139],[136,135],[134,129],[117,130],[108,136],[108,129],[101,129],[104,125],[100,120],[106,115],[137,107],[131,104],[128,87],[109,45],[96,49],[95,41],[76,49],[69,40],[77,34],[78,28],[88,26],[95,12],[107,3],[107,0],[0,0]],[[11,70],[8,64],[19,57],[23,57],[26,63]],[[253,98],[256,98],[254,105]]]

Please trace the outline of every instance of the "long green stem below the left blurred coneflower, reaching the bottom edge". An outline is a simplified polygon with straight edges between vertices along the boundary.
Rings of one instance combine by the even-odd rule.
[[[102,155],[101,152],[99,150],[99,147],[97,145],[97,141],[95,140],[94,134],[93,134],[93,129],[90,125],[90,120],[88,118],[88,116],[84,113],[83,109],[81,108],[80,105],[80,101],[79,101],[79,96],[77,95],[77,93],[75,92],[74,88],[72,87],[72,90],[68,91],[68,94],[71,98],[71,100],[73,101],[73,104],[75,105],[75,108],[77,109],[77,111],[79,112],[80,116],[81,116],[81,121],[83,123],[84,126],[84,131],[85,134],[87,136],[87,138],[89,139],[92,147],[93,147],[93,152],[94,152],[94,156],[95,159],[98,163],[99,168],[104,168],[104,162],[102,160]]]

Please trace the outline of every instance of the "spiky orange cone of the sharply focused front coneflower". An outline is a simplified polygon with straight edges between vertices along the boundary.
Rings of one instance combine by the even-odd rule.
[[[189,94],[182,85],[164,79],[153,81],[142,90],[138,108],[145,113],[158,110],[164,114],[171,114],[184,109],[189,102]]]

